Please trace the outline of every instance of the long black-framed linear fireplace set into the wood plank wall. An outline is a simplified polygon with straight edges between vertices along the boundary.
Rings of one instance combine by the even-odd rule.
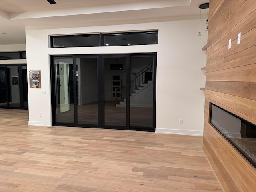
[[[256,125],[212,103],[210,123],[256,168]]]

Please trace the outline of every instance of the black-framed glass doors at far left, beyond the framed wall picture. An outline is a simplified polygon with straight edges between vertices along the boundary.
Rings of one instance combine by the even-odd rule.
[[[0,65],[0,108],[28,109],[26,64]]]

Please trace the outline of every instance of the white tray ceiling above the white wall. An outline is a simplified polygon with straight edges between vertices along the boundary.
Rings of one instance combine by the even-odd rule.
[[[0,45],[25,44],[25,26],[100,26],[199,19],[209,0],[1,0]],[[207,10],[202,9],[202,18]]]

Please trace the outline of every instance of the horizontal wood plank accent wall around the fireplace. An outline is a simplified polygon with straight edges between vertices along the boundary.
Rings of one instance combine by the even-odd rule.
[[[203,150],[224,192],[256,191],[256,169],[209,123],[213,103],[256,124],[255,18],[256,0],[209,2]]]

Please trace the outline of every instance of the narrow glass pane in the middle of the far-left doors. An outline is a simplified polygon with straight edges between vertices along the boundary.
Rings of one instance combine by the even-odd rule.
[[[9,107],[20,107],[20,87],[18,66],[7,66],[8,104]]]

